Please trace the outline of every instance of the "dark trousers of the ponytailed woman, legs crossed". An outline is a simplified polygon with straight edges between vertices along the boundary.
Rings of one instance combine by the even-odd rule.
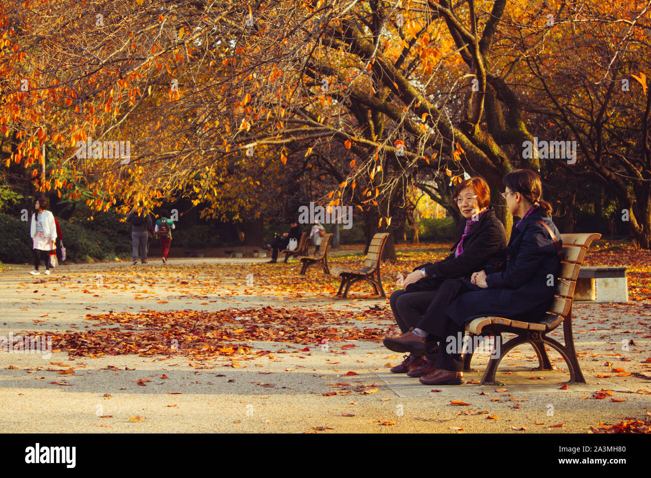
[[[459,333],[464,336],[465,324],[457,325],[445,314],[455,299],[465,292],[473,291],[460,279],[449,279],[439,287],[436,297],[425,311],[417,327],[429,332],[439,341],[439,349],[434,365],[439,369],[460,372],[464,370],[464,360],[461,356],[462,343],[459,343]]]

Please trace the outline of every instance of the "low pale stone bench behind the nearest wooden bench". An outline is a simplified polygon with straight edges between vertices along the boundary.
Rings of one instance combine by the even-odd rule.
[[[581,267],[574,300],[628,302],[626,267]]]

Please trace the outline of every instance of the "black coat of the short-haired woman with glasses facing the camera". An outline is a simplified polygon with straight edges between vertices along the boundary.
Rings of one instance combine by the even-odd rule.
[[[466,222],[472,220],[466,219]],[[465,229],[463,222],[457,234],[461,236]],[[459,239],[461,240],[461,239]],[[427,291],[436,289],[446,279],[467,277],[473,272],[481,271],[484,266],[493,266],[499,258],[500,250],[506,246],[506,232],[502,222],[495,217],[492,207],[482,215],[464,239],[464,252],[459,257],[454,257],[459,241],[450,248],[452,254],[436,263],[428,262],[413,269],[425,269],[426,278],[407,285],[406,292]]]

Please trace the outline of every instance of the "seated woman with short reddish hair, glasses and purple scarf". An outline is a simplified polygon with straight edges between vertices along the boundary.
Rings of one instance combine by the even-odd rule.
[[[439,286],[449,278],[470,278],[484,265],[493,265],[497,253],[506,246],[506,233],[502,222],[495,217],[490,206],[490,189],[483,178],[462,181],[454,191],[454,200],[465,222],[460,224],[460,236],[447,258],[436,263],[428,262],[413,269],[403,287],[391,294],[389,304],[402,333],[418,326]],[[391,369],[393,373],[407,373],[409,377],[422,377],[434,371],[436,341],[428,343],[425,356],[409,354],[402,364]]]

